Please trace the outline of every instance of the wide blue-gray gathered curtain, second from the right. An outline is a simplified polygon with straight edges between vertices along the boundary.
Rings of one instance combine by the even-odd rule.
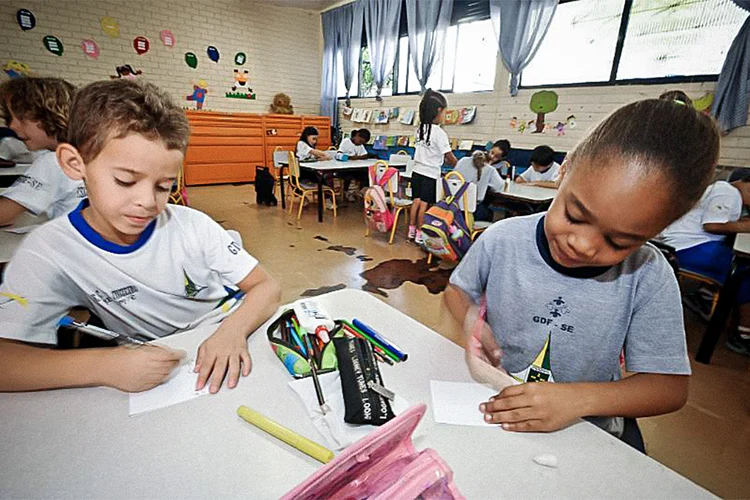
[[[518,77],[542,44],[557,3],[558,0],[490,0],[500,57],[510,72],[510,95],[518,93]]]

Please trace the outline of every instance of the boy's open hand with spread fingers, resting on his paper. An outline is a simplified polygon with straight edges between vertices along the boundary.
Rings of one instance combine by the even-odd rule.
[[[250,374],[250,352],[247,350],[247,336],[222,323],[216,332],[203,341],[198,348],[194,371],[198,373],[196,390],[201,390],[211,377],[209,392],[216,394],[221,388],[224,376],[227,387],[234,389],[240,379]]]

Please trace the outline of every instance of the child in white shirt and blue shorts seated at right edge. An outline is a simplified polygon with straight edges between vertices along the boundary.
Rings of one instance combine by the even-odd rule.
[[[659,240],[674,247],[680,269],[724,283],[732,267],[732,246],[727,235],[750,232],[750,218],[742,207],[750,205],[750,174],[732,182],[717,181],[706,189],[698,204],[671,224]],[[710,300],[701,291],[685,297],[685,304],[708,320]],[[734,352],[750,356],[750,280],[743,279],[737,293],[740,321],[727,342]]]

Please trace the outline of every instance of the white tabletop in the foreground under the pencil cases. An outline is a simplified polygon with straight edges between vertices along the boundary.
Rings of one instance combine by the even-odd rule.
[[[336,318],[358,318],[408,353],[382,366],[385,385],[428,405],[414,434],[436,450],[473,498],[709,498],[711,494],[587,422],[551,434],[434,422],[430,380],[470,381],[463,350],[359,290],[317,297]],[[269,322],[266,323],[269,324]],[[234,390],[128,417],[128,395],[109,388],[0,394],[0,497],[278,498],[321,464],[236,415],[247,405],[300,434],[322,438],[273,354],[265,327],[249,339],[253,369]],[[162,342],[188,350],[206,328]],[[535,464],[554,454],[556,469]]]

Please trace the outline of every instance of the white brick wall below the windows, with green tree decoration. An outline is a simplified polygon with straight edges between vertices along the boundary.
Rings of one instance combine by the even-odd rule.
[[[577,127],[566,128],[564,136],[558,136],[556,130],[544,134],[532,134],[526,130],[523,134],[510,127],[513,116],[519,121],[536,118],[529,109],[529,100],[536,90],[521,90],[516,97],[508,93],[508,73],[498,61],[495,90],[492,92],[473,92],[464,94],[446,94],[448,108],[477,106],[477,116],[469,125],[446,125],[450,137],[474,139],[485,143],[497,139],[508,139],[513,147],[532,149],[540,144],[547,144],[557,151],[569,151],[582,139],[588,130],[604,119],[618,107],[639,99],[657,98],[665,90],[681,89],[690,97],[698,98],[708,91],[713,91],[715,82],[686,83],[677,85],[629,85],[617,87],[572,87],[555,90],[558,94],[558,107],[545,117],[548,123],[564,122],[569,115],[576,116]],[[419,108],[419,96],[384,97],[382,103],[374,98],[352,99],[354,108],[401,107],[404,109]],[[343,103],[343,101],[341,101]],[[391,122],[387,125],[353,123],[341,116],[343,104],[339,106],[339,123],[345,132],[353,128],[366,126],[374,135],[408,135],[415,127]],[[675,124],[675,127],[679,127]],[[722,138],[720,164],[731,166],[750,166],[750,127],[741,127]]]

